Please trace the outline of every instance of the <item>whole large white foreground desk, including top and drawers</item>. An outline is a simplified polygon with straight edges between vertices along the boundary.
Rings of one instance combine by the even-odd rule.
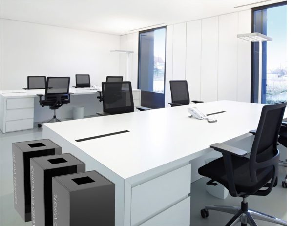
[[[47,123],[43,138],[115,183],[115,225],[189,225],[190,162],[211,152],[210,144],[250,136],[263,105],[217,101],[196,107],[204,114],[225,112],[210,116],[216,123],[189,118],[188,105]]]

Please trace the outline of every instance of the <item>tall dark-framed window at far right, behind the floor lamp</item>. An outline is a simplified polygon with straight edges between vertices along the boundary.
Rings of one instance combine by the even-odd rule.
[[[252,32],[272,38],[263,42],[261,103],[287,100],[287,2],[252,9]],[[258,103],[259,44],[252,44],[251,102]]]

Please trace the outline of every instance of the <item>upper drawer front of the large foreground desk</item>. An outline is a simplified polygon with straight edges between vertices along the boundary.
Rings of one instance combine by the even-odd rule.
[[[131,225],[176,203],[190,193],[191,164],[133,187],[131,190]]]

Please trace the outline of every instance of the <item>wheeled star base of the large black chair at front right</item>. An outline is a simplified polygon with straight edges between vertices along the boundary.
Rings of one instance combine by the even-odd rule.
[[[251,226],[257,226],[254,219],[258,219],[258,220],[262,220],[266,222],[272,222],[279,225],[285,225],[285,226],[287,225],[286,221],[272,217],[265,213],[261,213],[261,212],[249,209],[248,203],[246,202],[245,199],[246,198],[243,198],[243,201],[241,202],[241,207],[224,206],[224,205],[208,205],[204,209],[201,210],[201,216],[203,218],[206,218],[209,216],[209,210],[216,210],[220,212],[234,214],[231,220],[226,224],[227,226],[235,225],[238,222],[241,222],[242,226],[246,226],[247,224]]]

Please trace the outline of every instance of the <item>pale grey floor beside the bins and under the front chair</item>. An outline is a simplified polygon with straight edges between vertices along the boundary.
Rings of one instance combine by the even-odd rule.
[[[0,225],[25,226],[31,222],[23,222],[13,206],[12,182],[12,143],[42,139],[42,131],[38,128],[12,133],[0,134]],[[279,177],[283,180],[287,168],[279,168]],[[205,205],[234,205],[239,206],[241,198],[230,195],[222,200],[211,196],[205,188],[207,179],[203,178],[191,184],[190,225],[225,225],[231,214],[209,211],[209,217],[202,219],[200,209]],[[279,183],[268,196],[248,197],[249,208],[287,220],[287,189]],[[256,220],[259,225],[274,225]]]

